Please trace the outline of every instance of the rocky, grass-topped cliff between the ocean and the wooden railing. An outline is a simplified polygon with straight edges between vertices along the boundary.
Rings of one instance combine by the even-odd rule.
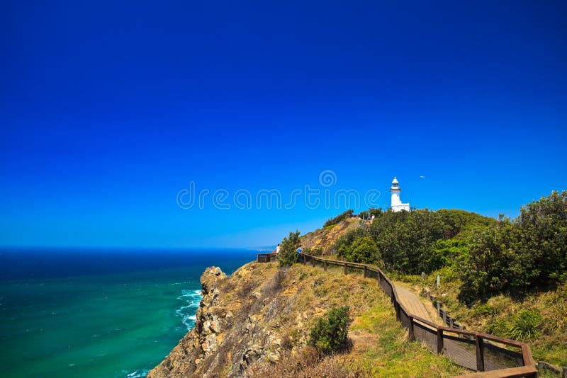
[[[201,286],[195,327],[148,377],[366,377],[391,369],[377,358],[399,362],[402,375],[420,376],[432,366],[437,376],[456,372],[405,341],[374,280],[300,264],[280,270],[276,263],[249,263],[230,277],[207,268]],[[310,353],[310,328],[345,304],[354,320],[352,348],[325,358]]]

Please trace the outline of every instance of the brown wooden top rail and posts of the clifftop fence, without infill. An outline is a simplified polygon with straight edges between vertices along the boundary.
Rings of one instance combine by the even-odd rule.
[[[276,253],[258,253],[258,261],[259,256],[269,256],[269,255],[276,255]],[[432,321],[428,321],[427,319],[420,318],[420,316],[416,316],[408,309],[406,309],[403,304],[401,304],[398,298],[398,291],[395,289],[395,285],[390,280],[390,277],[383,273],[383,271],[375,266],[361,264],[361,263],[351,263],[349,261],[341,261],[341,260],[331,260],[327,258],[320,258],[318,256],[309,255],[307,253],[302,253],[303,262],[306,263],[306,258],[310,258],[313,261],[313,266],[315,266],[315,261],[320,261],[324,264],[325,270],[327,270],[327,264],[335,264],[335,265],[342,265],[344,266],[344,274],[347,274],[347,268],[352,266],[353,268],[361,268],[364,269],[365,272],[371,271],[378,274],[378,282],[386,281],[388,285],[391,287],[392,290],[392,302],[394,305],[394,309],[396,310],[396,317],[398,321],[400,321],[400,309],[408,316],[410,319],[410,329],[408,330],[408,334],[410,339],[415,339],[415,333],[413,332],[413,323],[414,321],[419,321],[420,323],[425,324],[426,326],[432,328],[432,331],[437,333],[437,353],[442,353],[443,351],[443,335],[444,333],[456,333],[462,336],[468,336],[475,339],[476,343],[476,360],[477,360],[477,370],[480,372],[466,374],[461,377],[490,377],[490,378],[514,378],[514,377],[537,377],[537,365],[534,362],[534,358],[532,357],[532,350],[529,348],[527,343],[522,343],[516,340],[510,340],[508,338],[501,338],[494,335],[489,335],[487,333],[481,333],[476,331],[468,331],[464,329],[457,329],[457,328],[449,328],[444,326],[437,326],[437,324],[432,323]],[[365,275],[366,277],[366,275]],[[504,344],[513,346],[516,348],[522,349],[522,362],[524,366],[521,367],[512,367],[500,370],[491,370],[490,372],[483,372],[484,366],[484,359],[483,359],[483,342],[484,340],[494,341],[496,343]]]

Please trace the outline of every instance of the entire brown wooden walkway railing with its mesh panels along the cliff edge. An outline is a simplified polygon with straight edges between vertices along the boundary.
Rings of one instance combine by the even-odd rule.
[[[276,253],[257,255],[259,263],[276,260]],[[464,377],[537,377],[537,365],[527,343],[486,333],[437,326],[427,319],[410,314],[398,299],[395,285],[380,268],[307,254],[298,256],[298,261],[309,263],[313,267],[319,266],[325,271],[339,268],[345,275],[356,273],[376,279],[378,286],[390,297],[396,319],[408,329],[408,338],[424,343],[433,353],[443,354],[457,365],[476,371]]]

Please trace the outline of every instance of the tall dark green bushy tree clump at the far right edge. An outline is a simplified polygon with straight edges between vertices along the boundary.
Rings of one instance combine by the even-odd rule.
[[[466,303],[507,292],[521,297],[567,280],[567,192],[522,207],[514,221],[476,231],[460,264]]]

